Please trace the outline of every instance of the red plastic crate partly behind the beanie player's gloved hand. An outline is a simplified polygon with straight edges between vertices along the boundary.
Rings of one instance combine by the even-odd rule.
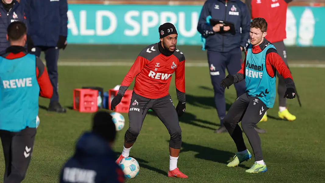
[[[110,89],[108,91],[108,109],[110,109],[110,103],[112,102],[113,98],[117,95],[118,90]],[[132,98],[132,92],[133,90],[127,90],[125,91],[122,100],[120,104],[118,104],[114,111],[120,112],[120,113],[128,113],[130,104],[131,104],[131,98]]]

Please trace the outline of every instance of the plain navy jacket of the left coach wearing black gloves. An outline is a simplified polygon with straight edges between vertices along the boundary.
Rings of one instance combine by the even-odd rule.
[[[26,1],[28,35],[34,46],[57,46],[59,35],[68,34],[67,0]]]

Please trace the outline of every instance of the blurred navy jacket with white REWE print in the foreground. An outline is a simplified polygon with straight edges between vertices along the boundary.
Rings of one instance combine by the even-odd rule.
[[[115,163],[115,158],[107,141],[86,132],[78,140],[74,155],[64,164],[60,172],[60,183],[122,183],[125,181],[124,174]],[[78,179],[80,177],[82,180]]]

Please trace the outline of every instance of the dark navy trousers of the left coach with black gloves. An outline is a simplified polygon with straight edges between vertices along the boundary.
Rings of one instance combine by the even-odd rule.
[[[59,102],[58,94],[58,60],[59,60],[59,49],[55,47],[35,47],[30,52],[36,56],[41,55],[41,51],[45,53],[46,68],[48,76],[53,86],[53,96],[50,99],[50,102]]]

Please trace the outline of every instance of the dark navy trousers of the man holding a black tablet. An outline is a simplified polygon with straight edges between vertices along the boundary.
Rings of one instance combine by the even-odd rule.
[[[210,68],[210,77],[214,89],[214,103],[220,119],[220,125],[223,125],[223,119],[226,116],[225,89],[220,86],[222,79],[226,77],[226,68],[229,74],[236,74],[241,68],[240,48],[229,52],[207,51]],[[245,81],[235,84],[237,97],[245,93]]]

